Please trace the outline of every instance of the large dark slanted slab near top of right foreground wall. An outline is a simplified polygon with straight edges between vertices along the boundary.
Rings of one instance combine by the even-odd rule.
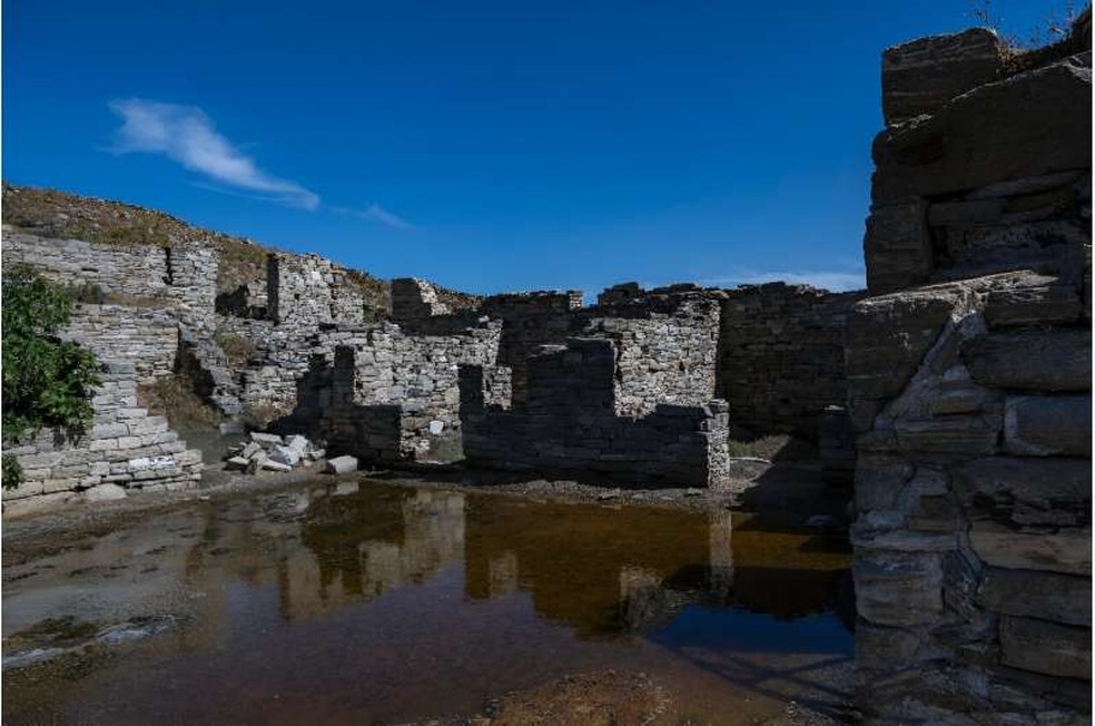
[[[1064,61],[981,86],[930,118],[882,131],[874,147],[875,204],[1088,167],[1091,79],[1089,67]]]

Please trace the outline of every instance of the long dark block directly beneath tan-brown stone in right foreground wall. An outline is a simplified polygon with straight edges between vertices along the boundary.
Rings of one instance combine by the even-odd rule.
[[[1092,580],[1054,572],[988,568],[978,604],[1005,615],[1092,625]]]

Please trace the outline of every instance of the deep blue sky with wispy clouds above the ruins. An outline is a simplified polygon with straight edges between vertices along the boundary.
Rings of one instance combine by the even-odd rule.
[[[880,52],[971,7],[3,0],[2,171],[476,293],[858,287]]]

